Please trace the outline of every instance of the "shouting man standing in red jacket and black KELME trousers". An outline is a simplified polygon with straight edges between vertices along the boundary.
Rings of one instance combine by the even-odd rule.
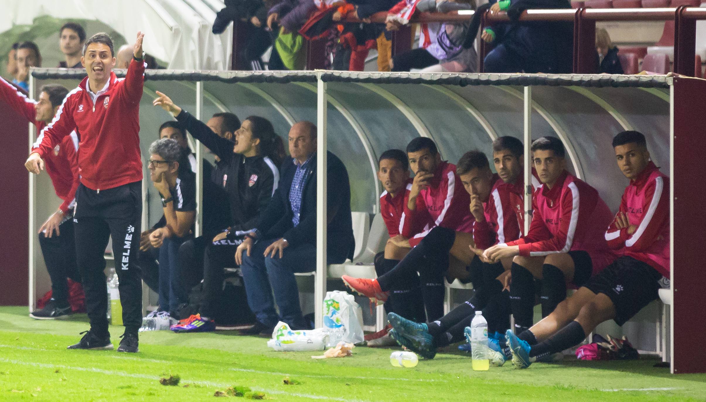
[[[139,111],[145,72],[143,37],[138,32],[134,59],[124,80],[112,72],[116,59],[110,37],[99,33],[86,41],[81,62],[88,78],[68,93],[25,163],[28,171],[39,173],[43,159],[56,144],[71,131],[78,133],[81,183],[76,191],[74,223],[90,331],[68,347],[71,349],[113,348],[103,274],[103,255],[112,237],[125,325],[118,351],[138,351],[142,323],[142,283],[136,257],[142,216]],[[162,200],[167,202],[173,200]]]

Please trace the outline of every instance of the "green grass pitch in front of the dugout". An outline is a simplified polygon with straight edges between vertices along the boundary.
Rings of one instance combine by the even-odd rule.
[[[657,360],[508,362],[472,372],[467,355],[445,349],[417,367],[392,367],[392,349],[357,347],[352,357],[313,360],[275,352],[266,339],[208,334],[140,334],[140,353],[67,351],[88,329],[85,315],[36,321],[27,307],[0,307],[0,401],[208,401],[248,386],[277,401],[706,401],[706,374],[669,374]],[[121,327],[111,327],[117,345]],[[179,375],[178,386],[159,380]],[[285,385],[289,377],[300,382]],[[188,385],[188,386],[185,386]]]

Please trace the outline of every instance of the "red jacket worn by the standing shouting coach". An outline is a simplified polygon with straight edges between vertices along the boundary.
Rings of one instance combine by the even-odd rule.
[[[142,180],[139,112],[144,73],[145,63],[134,59],[126,78],[119,79],[111,72],[107,89],[95,104],[88,93],[88,77],[84,78],[75,90],[68,92],[32,152],[44,158],[76,130],[83,185],[92,190],[107,190]]]

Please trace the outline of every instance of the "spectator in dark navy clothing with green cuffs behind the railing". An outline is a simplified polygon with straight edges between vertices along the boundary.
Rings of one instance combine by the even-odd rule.
[[[493,44],[484,59],[486,73],[570,73],[572,68],[573,23],[522,22],[520,14],[529,8],[570,8],[568,0],[504,0],[480,6],[472,19],[464,47],[474,45],[481,14],[507,11],[510,23],[493,24],[481,39]]]

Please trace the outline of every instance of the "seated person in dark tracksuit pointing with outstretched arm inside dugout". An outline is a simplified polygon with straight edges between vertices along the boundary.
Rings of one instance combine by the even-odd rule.
[[[203,288],[205,297],[199,314],[189,317],[174,331],[213,331],[221,289],[225,279],[223,269],[234,266],[234,254],[242,243],[246,231],[255,227],[256,221],[270,203],[279,170],[275,166],[284,157],[284,146],[275,134],[272,123],[259,116],[249,116],[235,132],[235,143],[222,138],[207,125],[184,111],[161,92],[155,105],[162,106],[184,124],[194,138],[203,142],[217,154],[220,164],[227,166],[222,183],[227,188],[231,205],[232,223],[218,233],[205,248]]]

